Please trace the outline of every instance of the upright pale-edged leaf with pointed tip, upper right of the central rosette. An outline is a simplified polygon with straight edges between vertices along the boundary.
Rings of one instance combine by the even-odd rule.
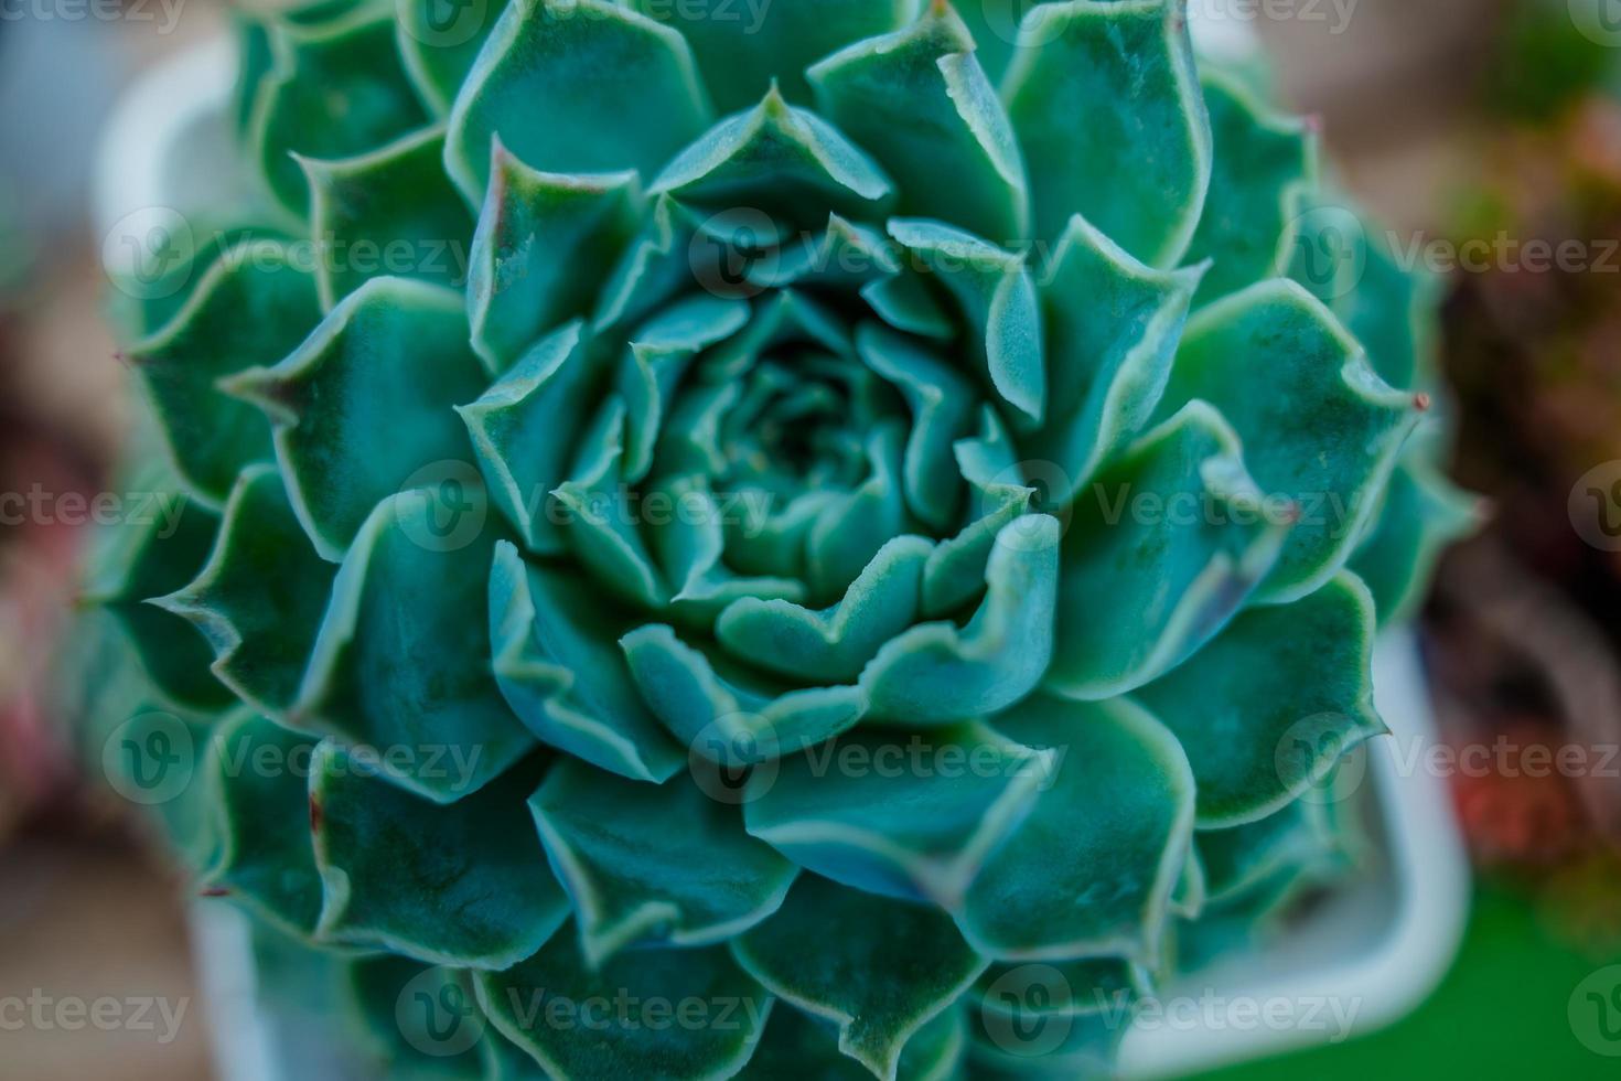
[[[1023,446],[1050,462],[1062,507],[1154,415],[1203,267],[1154,271],[1075,216],[1041,282],[1047,423]]]

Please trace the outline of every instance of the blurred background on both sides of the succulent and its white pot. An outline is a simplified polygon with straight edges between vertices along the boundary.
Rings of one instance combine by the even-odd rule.
[[[1568,1015],[1621,961],[1621,0],[1235,10],[1397,258],[1441,279],[1454,476],[1491,519],[1443,564],[1420,640],[1446,739],[1493,750],[1448,778],[1477,874],[1439,989],[1384,1032],[1227,1076],[1621,1076],[1621,990],[1615,1032]],[[126,423],[101,131],[143,70],[225,18],[217,0],[0,0],[0,997],[186,1003],[173,1026],[0,1013],[6,1079],[212,1076],[182,887],[75,776],[44,671]],[[1543,765],[1571,749],[1584,767]]]

